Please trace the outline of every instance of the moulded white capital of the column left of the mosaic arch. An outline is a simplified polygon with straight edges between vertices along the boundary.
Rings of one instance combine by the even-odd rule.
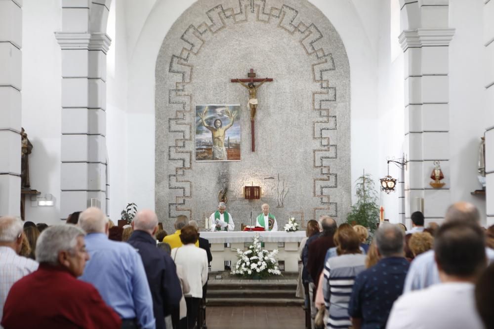
[[[101,50],[105,54],[110,49],[112,39],[106,33],[55,32],[58,44],[64,49]]]

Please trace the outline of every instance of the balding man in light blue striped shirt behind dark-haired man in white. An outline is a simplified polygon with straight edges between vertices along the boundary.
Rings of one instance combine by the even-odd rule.
[[[480,214],[477,207],[469,202],[456,202],[446,211],[445,222],[460,221],[480,225]],[[489,261],[494,261],[494,250],[486,248]],[[434,250],[429,250],[415,257],[405,279],[403,293],[420,290],[441,283],[435,261]]]

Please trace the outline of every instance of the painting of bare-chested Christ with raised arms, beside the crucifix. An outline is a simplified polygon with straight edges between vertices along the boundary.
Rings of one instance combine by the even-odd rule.
[[[240,161],[240,104],[196,105],[196,161]]]

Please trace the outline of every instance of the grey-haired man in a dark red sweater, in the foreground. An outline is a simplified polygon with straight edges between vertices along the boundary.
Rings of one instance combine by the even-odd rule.
[[[122,321],[98,291],[78,280],[89,259],[84,231],[72,224],[46,228],[38,238],[40,267],[8,294],[1,325],[10,328],[120,328]]]

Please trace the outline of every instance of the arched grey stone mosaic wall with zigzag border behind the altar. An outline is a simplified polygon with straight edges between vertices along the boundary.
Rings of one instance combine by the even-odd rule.
[[[257,91],[250,150],[247,90],[231,78],[272,77]],[[283,229],[350,208],[350,70],[328,19],[306,0],[199,0],[166,35],[156,65],[156,211],[199,221],[227,190],[236,230],[268,203]],[[241,104],[239,162],[196,162],[195,105]],[[248,201],[243,186],[259,185]],[[281,203],[281,191],[286,194]]]

